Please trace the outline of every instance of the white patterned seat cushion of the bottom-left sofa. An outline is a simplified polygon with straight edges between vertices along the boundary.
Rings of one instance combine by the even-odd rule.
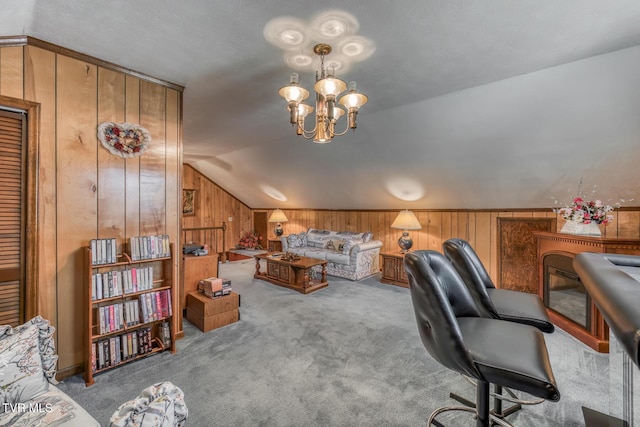
[[[17,404],[16,404],[17,405]],[[34,427],[100,427],[89,413],[56,386],[26,404],[25,409],[15,407],[0,415],[0,426]],[[31,405],[31,406],[29,406]],[[29,407],[36,410],[29,410]]]

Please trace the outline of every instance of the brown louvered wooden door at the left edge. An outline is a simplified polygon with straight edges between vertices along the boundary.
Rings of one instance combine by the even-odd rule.
[[[0,325],[24,319],[26,117],[0,110]]]

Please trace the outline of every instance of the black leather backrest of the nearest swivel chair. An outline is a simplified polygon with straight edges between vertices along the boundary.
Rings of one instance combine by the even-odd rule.
[[[404,256],[418,331],[426,350],[447,368],[481,378],[462,339],[458,317],[481,317],[469,290],[449,261],[436,251]]]

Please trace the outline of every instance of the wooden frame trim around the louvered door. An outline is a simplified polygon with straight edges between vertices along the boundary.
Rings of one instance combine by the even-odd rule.
[[[25,254],[25,319],[38,307],[38,149],[40,145],[40,104],[0,95],[0,105],[27,112],[27,214]]]

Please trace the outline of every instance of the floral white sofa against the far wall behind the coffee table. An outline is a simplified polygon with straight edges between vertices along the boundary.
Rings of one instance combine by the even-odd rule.
[[[282,250],[308,258],[327,260],[327,274],[360,280],[380,272],[380,240],[373,234],[317,230],[281,236]]]

